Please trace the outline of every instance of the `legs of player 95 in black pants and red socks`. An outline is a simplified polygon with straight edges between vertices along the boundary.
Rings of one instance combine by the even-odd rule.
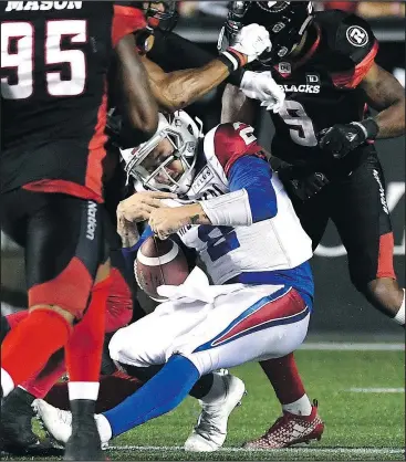
[[[74,385],[75,391],[71,397],[75,422],[71,444],[73,450],[69,451],[66,448],[65,458],[71,460],[82,458],[82,454],[77,453],[79,438],[85,440],[85,445],[82,445],[82,453],[85,454],[83,456],[86,460],[100,460],[102,452],[93,414],[100,374],[100,354],[103,346],[105,317],[103,300],[107,287],[105,279],[108,276],[103,220],[98,212],[101,206],[65,195],[40,193],[23,189],[11,191],[6,196],[3,195],[2,200],[7,199],[9,207],[2,203],[2,227],[6,224],[6,231],[25,248],[31,309],[28,318],[12,329],[4,339],[2,368],[10,371],[9,375],[15,385],[21,384],[45,365],[50,354],[64,346],[71,384]],[[89,219],[90,211],[94,218],[92,222]],[[96,303],[93,303],[94,301]],[[69,327],[67,319],[80,319],[86,306],[87,311],[83,319],[73,328]],[[41,309],[35,309],[37,307]],[[63,319],[66,322],[62,323]],[[44,321],[48,324],[44,325]],[[97,328],[94,326],[95,321]],[[60,338],[62,328],[55,333],[53,327],[50,327],[56,322],[58,326],[63,324],[66,330],[62,339]],[[86,326],[86,335],[81,335],[84,326]],[[50,332],[52,336],[46,335]],[[55,338],[53,343],[48,345],[53,338]],[[39,353],[31,348],[35,343],[44,346],[38,348]],[[15,346],[19,348],[15,349]],[[33,357],[37,363],[32,360]],[[97,359],[87,365],[95,357]],[[83,381],[93,387],[91,392],[89,392],[90,387],[86,388],[86,396],[83,395]],[[6,434],[12,437],[14,427],[11,424],[4,427],[3,411],[1,419],[2,437]],[[12,422],[11,419],[7,421]],[[76,433],[77,438],[75,438]]]

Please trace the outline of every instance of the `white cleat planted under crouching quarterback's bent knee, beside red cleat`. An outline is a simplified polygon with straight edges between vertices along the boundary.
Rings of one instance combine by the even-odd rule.
[[[227,423],[233,409],[241,405],[246,386],[241,379],[231,376],[227,370],[215,372],[210,392],[199,399],[201,413],[197,426],[186,440],[184,449],[189,452],[214,452],[226,441]],[[210,395],[215,398],[209,399]]]

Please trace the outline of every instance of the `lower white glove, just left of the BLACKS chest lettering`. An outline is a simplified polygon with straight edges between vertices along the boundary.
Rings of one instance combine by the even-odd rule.
[[[266,106],[267,111],[273,111],[274,114],[278,114],[283,106],[284,91],[273,80],[270,71],[246,71],[240,88],[247,97],[259,99],[261,106]]]

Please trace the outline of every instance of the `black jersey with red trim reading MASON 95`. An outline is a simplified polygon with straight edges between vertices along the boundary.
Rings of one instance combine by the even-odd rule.
[[[1,192],[101,200],[106,74],[114,45],[145,27],[111,1],[1,1]]]

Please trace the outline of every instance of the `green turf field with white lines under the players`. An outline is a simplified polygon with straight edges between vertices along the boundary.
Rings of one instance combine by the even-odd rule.
[[[248,396],[229,424],[225,449],[199,455],[179,447],[199,409],[187,399],[177,410],[112,442],[111,460],[405,460],[404,351],[299,351],[311,398],[320,402],[325,431],[320,442],[298,449],[247,452],[246,440],[263,433],[279,416],[272,389],[258,365],[233,370]],[[356,392],[351,389],[391,389]],[[8,458],[2,458],[7,460]],[[53,459],[54,460],[54,459]]]

